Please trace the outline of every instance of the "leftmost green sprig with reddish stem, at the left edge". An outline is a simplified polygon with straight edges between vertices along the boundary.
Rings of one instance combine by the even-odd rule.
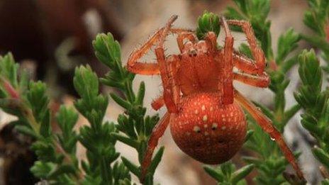
[[[52,133],[45,84],[28,83],[24,74],[18,74],[19,65],[10,53],[0,57],[0,66],[1,108],[18,116],[16,129],[35,139],[31,149],[38,156],[38,161],[31,168],[31,172],[36,177],[48,179],[51,184],[74,184],[73,181],[79,174],[75,151],[57,152],[66,148],[64,142],[57,142],[57,137],[65,136]],[[62,122],[64,123],[65,119]],[[76,143],[77,140],[71,140],[69,145],[74,148]]]

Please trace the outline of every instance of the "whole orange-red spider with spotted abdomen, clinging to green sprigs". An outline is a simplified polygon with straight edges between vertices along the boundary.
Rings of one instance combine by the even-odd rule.
[[[163,96],[156,99],[152,107],[158,110],[165,105],[168,110],[153,129],[148,141],[141,181],[145,178],[158,140],[168,125],[179,148],[194,159],[206,164],[220,164],[232,158],[245,142],[247,130],[245,113],[240,106],[277,142],[298,176],[304,179],[281,133],[274,128],[269,118],[233,87],[233,80],[257,87],[269,85],[269,77],[264,72],[264,53],[257,47],[250,23],[225,21],[222,17],[225,45],[218,49],[215,33],[208,32],[204,40],[197,40],[192,30],[172,28],[176,19],[177,16],[172,16],[165,27],[158,30],[128,59],[127,68],[130,72],[160,74]],[[233,50],[229,24],[241,26],[255,61]],[[168,33],[178,34],[179,55],[165,57],[163,43]],[[139,62],[140,57],[155,43],[157,62]],[[233,71],[233,67],[239,69],[238,72]]]

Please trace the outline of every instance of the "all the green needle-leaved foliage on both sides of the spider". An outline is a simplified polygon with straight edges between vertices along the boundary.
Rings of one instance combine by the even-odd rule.
[[[257,40],[266,55],[272,83],[269,86],[274,93],[274,107],[267,108],[259,103],[265,115],[274,123],[275,127],[283,133],[286,123],[302,107],[303,126],[318,140],[318,146],[313,153],[323,164],[320,168],[325,178],[323,184],[329,184],[329,147],[328,147],[328,91],[321,89],[322,73],[314,52],[304,51],[301,55],[292,52],[298,47],[301,35],[293,29],[286,30],[278,40],[277,52],[273,52],[271,22],[267,19],[270,4],[269,0],[234,0],[238,9],[228,7],[225,11],[227,18],[247,20],[252,23]],[[318,40],[327,42],[325,37],[326,21],[328,18],[328,4],[325,1],[309,1],[311,10],[306,13],[305,23],[313,26],[319,36]],[[313,24],[311,24],[313,23]],[[319,26],[315,26],[317,23]],[[232,30],[241,31],[240,28],[231,27]],[[220,32],[219,18],[214,13],[205,12],[198,20],[196,35],[199,39],[208,31]],[[321,31],[322,30],[322,31]],[[316,40],[316,38],[303,38]],[[310,41],[311,42],[311,41]],[[321,43],[320,42],[320,43]],[[313,43],[323,52],[329,48]],[[32,150],[38,155],[31,171],[40,179],[46,179],[50,184],[132,184],[130,172],[140,178],[140,164],[143,162],[147,141],[150,133],[159,121],[159,116],[147,116],[143,106],[145,84],[140,83],[138,91],[133,91],[135,74],[127,71],[121,62],[121,48],[111,33],[99,34],[93,42],[95,55],[100,62],[106,65],[110,72],[99,79],[89,66],[77,67],[74,73],[74,88],[80,98],[74,103],[75,109],[87,120],[79,130],[74,127],[77,123],[78,113],[74,108],[61,106],[56,115],[50,111],[50,99],[47,88],[42,82],[30,82],[25,72],[19,72],[19,65],[9,53],[0,57],[0,107],[14,116],[17,120],[11,124],[16,130],[30,135],[34,139]],[[252,57],[247,45],[242,44],[240,52]],[[329,50],[329,49],[328,49]],[[329,53],[329,52],[328,52]],[[327,54],[324,54],[324,58]],[[295,98],[298,104],[286,108],[284,96],[289,79],[286,72],[299,61],[299,75],[303,82]],[[329,69],[329,68],[328,68]],[[329,71],[325,69],[326,71]],[[19,73],[18,73],[19,72]],[[100,94],[100,84],[110,86],[116,90],[111,93],[111,99],[124,109],[117,118],[117,123],[104,121],[109,98]],[[328,104],[328,105],[327,105]],[[55,118],[55,119],[52,119]],[[52,120],[55,120],[59,132],[54,133]],[[288,162],[281,154],[276,143],[248,117],[250,130],[247,133],[245,147],[257,153],[257,157],[244,157],[249,163],[236,170],[231,162],[225,162],[218,167],[204,167],[218,184],[246,184],[245,176],[255,167],[258,175],[255,178],[258,184],[286,184],[299,183],[294,178],[284,178],[282,175]],[[133,147],[138,155],[139,164],[134,164],[116,151],[116,141]],[[87,149],[87,159],[79,162],[77,159],[77,142]],[[160,164],[164,147],[160,147],[154,155],[144,184],[154,184],[155,169]]]

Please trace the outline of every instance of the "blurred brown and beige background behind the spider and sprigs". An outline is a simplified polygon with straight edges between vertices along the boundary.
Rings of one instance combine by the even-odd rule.
[[[53,98],[52,110],[56,111],[60,103],[74,101],[72,77],[74,67],[89,64],[99,74],[108,69],[96,61],[91,42],[97,33],[111,32],[121,43],[123,63],[130,52],[147,40],[148,36],[163,26],[172,14],[179,16],[174,26],[195,28],[198,16],[204,10],[221,14],[226,6],[233,5],[229,0],[0,0],[0,53],[12,52],[16,61],[28,69],[30,77],[41,79],[50,87]],[[269,19],[272,21],[272,40],[274,48],[279,34],[290,27],[297,32],[307,33],[303,25],[303,12],[306,1],[272,1]],[[245,42],[244,35],[234,33],[235,45]],[[223,44],[223,35],[218,42]],[[301,47],[308,47],[301,42]],[[177,53],[176,41],[171,36],[166,43],[167,53]],[[146,58],[155,59],[151,52]],[[291,84],[286,91],[287,105],[294,103],[292,92],[298,85],[296,69],[288,74]],[[135,85],[146,83],[145,105],[149,113],[150,102],[161,93],[159,77],[137,76]],[[255,89],[242,84],[235,84],[250,99],[271,106],[272,94],[267,89]],[[257,91],[256,91],[257,90]],[[104,93],[113,89],[103,89]],[[255,91],[257,93],[255,93]],[[109,120],[116,120],[121,109],[111,101],[108,108]],[[162,115],[165,110],[160,111]],[[302,168],[311,184],[320,180],[318,164],[310,152],[313,139],[299,125],[299,114],[287,125],[285,137],[293,150],[300,150]],[[16,133],[9,125],[9,116],[0,115],[0,184],[34,184],[29,172],[35,156],[28,150],[30,140]],[[86,124],[81,119],[79,125]],[[155,174],[155,181],[160,184],[215,184],[205,172],[202,164],[194,161],[174,144],[170,133],[165,133],[160,145],[165,145],[165,154]],[[117,144],[121,155],[137,162],[136,153],[129,147]],[[83,158],[83,149],[80,150]],[[250,155],[241,150],[233,158],[238,167],[243,165],[241,155]],[[252,177],[247,179],[252,184]]]

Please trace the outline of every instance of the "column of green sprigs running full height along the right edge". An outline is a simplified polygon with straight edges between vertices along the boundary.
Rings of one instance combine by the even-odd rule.
[[[316,53],[304,50],[299,55],[299,77],[302,85],[295,95],[302,106],[301,124],[316,139],[313,155],[321,163],[319,167],[324,177],[322,184],[329,184],[329,147],[328,147],[328,87],[323,89],[323,74],[329,72],[329,2],[324,0],[308,0],[309,9],[304,13],[303,22],[315,34],[302,37],[320,50],[325,65],[320,67]],[[328,81],[328,78],[326,79]]]

